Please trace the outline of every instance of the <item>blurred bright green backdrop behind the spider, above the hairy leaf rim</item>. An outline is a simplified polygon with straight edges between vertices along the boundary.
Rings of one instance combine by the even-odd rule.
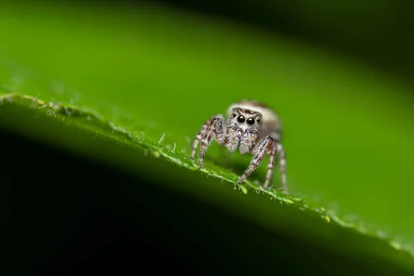
[[[383,28],[404,19],[397,12],[407,9],[380,1],[379,12],[355,2],[321,17],[320,10],[304,9],[305,1],[296,2],[277,8],[295,28],[290,23],[271,32],[270,23],[262,28],[265,20],[253,20],[253,27],[248,20],[155,4],[2,1],[0,83],[97,110],[153,141],[165,134],[163,144],[183,155],[211,115],[239,99],[263,101],[282,117],[293,195],[414,245],[413,57],[404,52],[408,39],[395,40],[404,28],[398,35]],[[259,4],[242,3],[246,14],[254,6],[272,17]],[[350,17],[376,24],[348,26]],[[306,42],[306,35],[293,38],[306,28],[308,36],[315,33],[311,41],[331,41],[331,48]],[[293,29],[290,37],[283,34]],[[373,30],[386,45],[364,35]],[[380,50],[388,47],[384,55]],[[208,155],[220,162],[216,145]],[[231,160],[248,163],[248,157]],[[265,170],[255,177],[263,181]],[[279,185],[277,173],[273,185]]]

